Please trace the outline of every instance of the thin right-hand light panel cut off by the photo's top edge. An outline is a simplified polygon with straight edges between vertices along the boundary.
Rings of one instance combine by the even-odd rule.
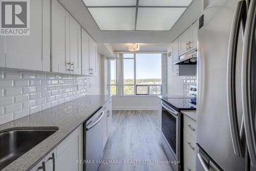
[[[188,6],[193,0],[139,0],[139,6]]]

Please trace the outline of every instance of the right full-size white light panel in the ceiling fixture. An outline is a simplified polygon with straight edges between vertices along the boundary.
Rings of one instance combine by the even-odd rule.
[[[186,8],[139,8],[136,30],[167,31]]]

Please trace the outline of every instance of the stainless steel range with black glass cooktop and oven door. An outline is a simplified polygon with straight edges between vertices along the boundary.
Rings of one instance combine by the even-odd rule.
[[[196,110],[190,98],[163,96],[161,144],[174,171],[182,170],[182,114],[181,110]],[[193,105],[191,105],[193,104]]]

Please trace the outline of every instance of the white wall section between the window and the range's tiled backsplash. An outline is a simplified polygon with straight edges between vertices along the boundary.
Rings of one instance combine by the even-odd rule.
[[[170,48],[169,48],[170,49]],[[183,96],[183,76],[173,76],[173,56],[167,57],[168,70],[168,95]]]

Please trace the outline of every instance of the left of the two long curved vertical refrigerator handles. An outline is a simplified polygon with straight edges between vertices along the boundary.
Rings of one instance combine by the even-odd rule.
[[[244,27],[243,19],[246,18],[246,2],[237,3],[231,26],[227,59],[227,105],[228,118],[234,154],[239,157],[244,155],[240,136],[237,102],[236,102],[236,60],[240,26]],[[241,25],[242,24],[242,25]],[[243,29],[244,31],[244,29]],[[243,131],[242,131],[243,132]]]

